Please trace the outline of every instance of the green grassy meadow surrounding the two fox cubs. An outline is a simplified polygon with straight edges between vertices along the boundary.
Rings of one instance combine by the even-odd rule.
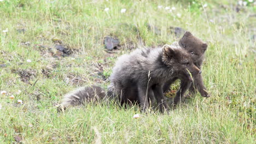
[[[24,143],[254,143],[255,17],[249,15],[256,13],[255,6],[248,4],[236,13],[236,1],[207,1],[205,9],[205,1],[195,2],[0,2],[0,64],[7,65],[0,67],[0,91],[7,91],[0,94],[0,143],[15,142],[15,136]],[[167,6],[176,10],[170,13]],[[120,13],[122,8],[126,13]],[[161,34],[150,31],[148,23]],[[155,47],[178,40],[170,26],[187,29],[207,42],[202,71],[212,97],[197,94],[164,114],[106,104],[57,113],[55,106],[72,89],[92,84],[106,88],[103,77],[132,46]],[[8,32],[2,32],[6,28]],[[24,33],[17,31],[22,28]],[[107,35],[117,37],[122,49],[106,52]],[[53,57],[48,50],[57,52],[53,39],[74,53]],[[30,45],[24,44],[27,41]],[[10,95],[15,98],[9,99]],[[141,117],[132,118],[136,113]]]

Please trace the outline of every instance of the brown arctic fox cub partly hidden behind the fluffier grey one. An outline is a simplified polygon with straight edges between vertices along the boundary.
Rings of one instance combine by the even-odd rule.
[[[181,40],[179,40],[178,45],[182,47],[183,50],[190,53],[193,63],[196,65],[197,68],[201,69],[201,65],[204,58],[204,53],[207,49],[207,44],[203,43],[202,40],[196,38],[190,32],[185,32]],[[195,94],[195,89],[197,89],[202,97],[210,97],[208,94],[206,87],[203,85],[202,75],[195,75],[193,82],[186,82],[181,81],[181,88],[184,89],[185,87],[189,88],[190,95]],[[164,85],[164,92],[166,92],[169,88],[171,83],[173,83],[176,79],[168,80]],[[183,95],[184,91],[178,91],[177,95]],[[178,100],[174,99],[174,104],[177,104]]]

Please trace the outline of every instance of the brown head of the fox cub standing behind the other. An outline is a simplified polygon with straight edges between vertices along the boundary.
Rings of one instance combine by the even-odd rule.
[[[185,32],[181,40],[179,40],[179,46],[190,53],[193,62],[199,61],[207,49],[207,44],[196,38],[189,31]]]

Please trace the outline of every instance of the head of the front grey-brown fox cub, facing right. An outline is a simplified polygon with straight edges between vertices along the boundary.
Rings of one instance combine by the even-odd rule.
[[[191,55],[187,51],[173,49],[170,45],[162,47],[162,62],[171,68],[179,79],[193,81],[193,76],[202,73],[193,63]]]

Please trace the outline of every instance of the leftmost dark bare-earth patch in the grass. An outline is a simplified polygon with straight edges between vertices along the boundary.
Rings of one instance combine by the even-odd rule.
[[[22,82],[30,83],[29,81],[36,77],[36,70],[33,69],[18,69],[11,70],[11,73],[18,74]]]

